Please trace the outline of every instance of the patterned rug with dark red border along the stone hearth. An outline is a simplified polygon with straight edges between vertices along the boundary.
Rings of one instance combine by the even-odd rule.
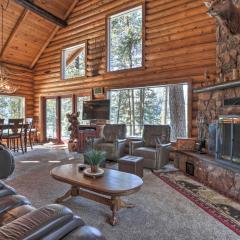
[[[181,172],[155,173],[161,180],[240,235],[240,204]]]

